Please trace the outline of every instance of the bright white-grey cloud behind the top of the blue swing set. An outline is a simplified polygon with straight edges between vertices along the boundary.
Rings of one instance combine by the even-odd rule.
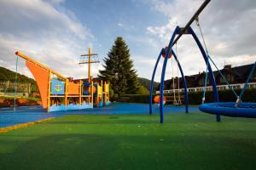
[[[164,26],[148,26],[148,35],[162,42],[170,41],[176,26],[184,26],[203,3],[202,0],[176,0],[165,3],[151,0],[152,8],[165,14],[169,21]],[[256,1],[221,1],[208,4],[200,15],[207,48],[222,68],[225,64],[245,65],[256,60]],[[201,39],[199,29],[192,25]],[[192,38],[183,36],[178,42],[178,57],[186,75],[205,71],[206,65]]]

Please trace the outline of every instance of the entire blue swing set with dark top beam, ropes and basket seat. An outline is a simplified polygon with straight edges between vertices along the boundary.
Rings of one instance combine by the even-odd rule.
[[[236,116],[236,117],[256,117],[256,103],[248,103],[248,102],[241,102],[241,98],[247,88],[247,83],[250,81],[250,79],[253,77],[253,71],[255,70],[256,67],[256,62],[253,65],[253,68],[247,77],[247,82],[244,85],[244,88],[241,90],[241,94],[238,95],[234,91],[234,89],[230,86],[230,83],[227,81],[227,79],[224,77],[221,71],[219,71],[217,65],[213,62],[212,58],[210,57],[207,49],[207,43],[205,41],[205,38],[203,37],[203,33],[201,31],[201,25],[199,22],[199,14],[201,14],[201,11],[207,6],[208,3],[210,3],[211,0],[206,0],[204,3],[201,4],[201,7],[198,8],[198,10],[195,12],[195,14],[192,16],[192,18],[189,20],[186,26],[184,27],[179,27],[177,26],[175,31],[172,34],[171,40],[169,42],[169,45],[166,48],[162,48],[160,50],[160,54],[156,60],[156,63],[154,65],[154,71],[152,74],[152,79],[151,79],[151,86],[150,86],[150,97],[149,97],[149,114],[152,114],[152,95],[153,95],[153,85],[154,85],[154,76],[155,76],[155,71],[157,69],[157,66],[159,64],[161,56],[164,57],[164,63],[162,66],[162,72],[161,72],[161,79],[160,79],[160,123],[164,122],[164,80],[165,80],[165,75],[166,75],[166,65],[168,59],[171,59],[172,56],[177,62],[177,67],[178,70],[182,76],[182,82],[183,82],[183,87],[184,87],[184,104],[185,104],[185,112],[189,112],[189,103],[188,103],[188,88],[187,88],[187,83],[183,74],[183,69],[182,66],[180,65],[178,59],[177,59],[177,50],[174,52],[172,50],[172,47],[176,44],[176,49],[177,49],[177,41],[180,37],[183,36],[183,34],[191,35],[198,48],[201,51],[202,57],[207,65],[207,71],[206,71],[206,77],[205,77],[205,86],[203,90],[203,96],[202,96],[202,104],[199,106],[199,109],[203,112],[210,113],[216,115],[216,121],[220,122],[220,116]],[[203,40],[203,45],[201,44],[201,41],[199,38],[196,36],[195,31],[190,27],[191,24],[195,21],[196,26],[199,27],[199,30],[201,32],[201,37]],[[176,37],[177,36],[177,37]],[[176,37],[176,39],[174,39]],[[168,57],[166,57],[168,56]],[[236,102],[219,102],[218,100],[218,89],[217,89],[217,84],[215,82],[215,77],[212,72],[212,65],[218,70],[219,75],[224,79],[224,82],[226,82],[230,88],[230,90],[233,92],[233,94],[236,95]],[[172,75],[173,75],[173,66],[172,66]],[[214,101],[213,103],[208,103],[205,104],[205,95],[207,91],[207,80],[208,77],[210,79],[210,82],[212,84],[212,89],[213,89],[213,96],[214,96]],[[172,77],[173,78],[173,77]],[[173,85],[174,81],[172,80],[172,88],[174,88]],[[179,83],[178,83],[179,84]],[[175,90],[173,90],[175,92]],[[175,96],[175,94],[174,94]]]

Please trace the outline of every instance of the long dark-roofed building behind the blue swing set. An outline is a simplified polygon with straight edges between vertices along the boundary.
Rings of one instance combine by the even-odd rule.
[[[250,73],[250,71],[253,68],[253,64],[251,65],[241,65],[232,67],[232,65],[224,65],[224,68],[220,70],[224,77],[228,80],[230,83],[230,86],[234,89],[240,89],[243,88],[244,83],[247,81],[247,77]],[[218,90],[225,90],[228,89],[228,85],[224,81],[223,77],[218,73],[218,71],[213,71],[215,81],[217,83]],[[203,91],[204,85],[205,85],[205,77],[206,72],[199,72],[196,75],[191,76],[185,76],[188,91],[189,92],[197,92],[197,91]],[[174,81],[174,82],[173,82]],[[179,83],[179,84],[178,84]],[[253,77],[248,83],[247,88],[256,88],[256,71],[253,73]],[[157,88],[156,94],[159,94],[160,86]],[[175,77],[169,80],[165,81],[165,88],[164,93],[172,93],[173,91],[180,91],[183,92],[183,82],[181,77]],[[208,78],[207,80],[207,91],[212,90],[211,82]]]

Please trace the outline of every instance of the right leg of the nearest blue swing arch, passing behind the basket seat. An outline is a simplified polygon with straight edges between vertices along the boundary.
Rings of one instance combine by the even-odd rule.
[[[192,35],[192,37],[195,39],[195,42],[196,42],[198,48],[200,48],[201,54],[202,54],[202,56],[203,56],[203,58],[204,58],[204,60],[205,60],[205,62],[207,64],[207,54],[206,54],[204,48],[202,47],[201,42],[199,41],[198,37],[195,35],[195,31],[193,31],[193,29],[190,26],[188,28],[188,31]],[[212,82],[214,102],[218,102],[217,84],[215,82],[215,77],[213,75],[212,67],[211,67],[210,64],[208,65],[208,71],[209,71],[209,74],[210,74],[210,81]],[[220,122],[220,115],[219,114],[216,115],[216,121]]]

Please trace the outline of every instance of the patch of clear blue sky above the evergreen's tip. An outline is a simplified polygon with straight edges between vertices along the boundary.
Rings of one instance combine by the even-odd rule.
[[[90,28],[94,39],[89,42],[94,50],[108,53],[117,36],[124,37],[131,53],[150,54],[147,43],[140,43],[147,37],[147,26],[159,26],[168,20],[164,14],[155,11],[143,1],[65,1],[61,3],[69,8]],[[85,44],[88,45],[88,44]]]

